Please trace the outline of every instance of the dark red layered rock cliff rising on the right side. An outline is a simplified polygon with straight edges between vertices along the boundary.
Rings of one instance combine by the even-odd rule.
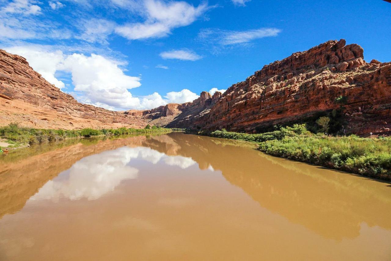
[[[256,132],[342,109],[346,133],[389,132],[391,63],[366,63],[359,45],[345,44],[328,41],[265,65],[176,126]]]

